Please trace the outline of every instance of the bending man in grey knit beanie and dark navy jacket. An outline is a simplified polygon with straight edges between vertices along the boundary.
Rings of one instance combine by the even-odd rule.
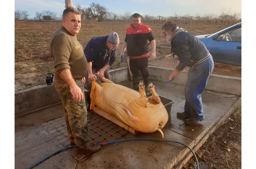
[[[108,68],[113,65],[116,60],[117,50],[119,45],[119,37],[117,32],[111,32],[108,36],[93,37],[84,49],[85,57],[87,58],[87,76],[84,83],[85,101],[87,110],[90,108],[90,90],[91,82],[97,79],[96,72],[99,72],[99,78],[105,77],[111,80]]]

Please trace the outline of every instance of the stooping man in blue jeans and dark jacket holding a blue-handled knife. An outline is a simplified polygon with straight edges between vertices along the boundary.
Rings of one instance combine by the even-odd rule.
[[[177,117],[185,118],[185,124],[196,124],[204,119],[201,95],[213,71],[214,61],[205,45],[176,23],[170,21],[164,24],[162,34],[171,43],[171,52],[178,57],[177,66],[169,80],[178,78],[180,71],[186,66],[190,67],[185,86],[184,111],[177,112]]]

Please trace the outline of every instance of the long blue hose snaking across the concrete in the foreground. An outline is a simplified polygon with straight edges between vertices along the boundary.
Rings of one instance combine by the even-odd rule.
[[[121,142],[121,141],[133,141],[133,140],[147,140],[147,141],[160,141],[160,142],[169,142],[169,143],[177,143],[177,144],[181,144],[181,145],[184,145],[185,147],[187,147],[192,153],[193,155],[195,156],[196,158],[196,154],[194,153],[194,151],[188,147],[186,144],[183,144],[181,142],[178,142],[178,141],[171,141],[171,140],[156,140],[156,139],[143,139],[143,138],[135,138],[135,139],[124,139],[124,140],[115,140],[115,141],[109,141],[109,142],[106,142],[106,143],[99,143],[101,146],[103,145],[106,145],[106,144],[112,144],[112,143],[117,143],[117,142]],[[62,148],[58,151],[55,151],[54,153],[52,153],[51,155],[48,155],[47,157],[41,159],[39,162],[35,163],[34,165],[31,165],[29,168],[27,169],[32,169],[34,166],[38,165],[39,163],[43,162],[44,160],[46,160],[47,158],[51,157],[52,155],[60,152],[60,151],[63,151],[63,150],[66,150],[68,148],[73,148],[73,147],[77,147],[76,145],[75,146],[69,146],[69,147],[65,147],[65,148]],[[197,158],[196,158],[196,169],[199,169],[199,165],[198,165],[198,161],[197,161]]]

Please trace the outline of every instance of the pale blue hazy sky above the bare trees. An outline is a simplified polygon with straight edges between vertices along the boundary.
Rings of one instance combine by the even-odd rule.
[[[241,14],[241,0],[73,0],[73,6],[80,4],[82,7],[89,7],[91,2],[99,3],[117,14],[129,11],[132,14],[163,17],[173,16],[175,13],[218,15],[224,9],[231,14]],[[65,9],[65,0],[15,0],[15,10],[18,9],[28,11],[30,18],[43,10],[53,11],[60,17]]]

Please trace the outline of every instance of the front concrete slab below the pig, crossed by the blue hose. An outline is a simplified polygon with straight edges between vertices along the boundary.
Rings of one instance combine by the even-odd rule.
[[[184,144],[193,146],[194,140],[177,134],[173,131],[163,129],[165,133],[164,140],[181,141]],[[140,133],[138,136],[128,134],[121,139],[131,138],[148,138],[162,140],[159,132],[145,134]],[[90,156],[82,162],[78,162],[76,169],[160,169],[173,159],[179,160],[182,154],[186,154],[188,149],[183,145],[136,140],[125,141],[105,145],[101,151]]]

